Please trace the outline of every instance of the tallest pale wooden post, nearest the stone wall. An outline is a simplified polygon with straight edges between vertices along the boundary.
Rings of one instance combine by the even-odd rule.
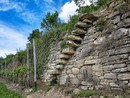
[[[35,40],[33,39],[33,59],[34,59],[34,86],[37,89],[37,75],[36,75],[36,48]]]

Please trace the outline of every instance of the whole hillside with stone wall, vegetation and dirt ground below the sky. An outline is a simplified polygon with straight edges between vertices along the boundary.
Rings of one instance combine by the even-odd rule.
[[[41,28],[28,37],[27,50],[0,59],[5,84],[18,84],[27,98],[130,97],[129,1],[99,0],[68,23],[48,13]]]

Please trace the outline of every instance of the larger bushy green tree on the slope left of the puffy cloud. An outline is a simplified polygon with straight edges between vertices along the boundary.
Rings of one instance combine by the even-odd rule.
[[[51,14],[50,12],[47,13],[46,17],[43,18],[41,22],[41,28],[45,30],[52,30],[59,26],[60,19],[58,18],[58,12]]]

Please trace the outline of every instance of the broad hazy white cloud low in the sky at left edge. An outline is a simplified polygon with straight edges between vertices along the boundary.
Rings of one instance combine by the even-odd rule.
[[[0,56],[16,53],[16,49],[25,49],[27,39],[23,33],[0,23]]]

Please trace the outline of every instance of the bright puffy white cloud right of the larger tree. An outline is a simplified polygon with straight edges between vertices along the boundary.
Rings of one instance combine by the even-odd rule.
[[[75,4],[74,1],[67,2],[61,8],[61,13],[59,14],[59,18],[64,20],[65,22],[69,21],[69,17],[77,14],[76,10],[78,6]]]

